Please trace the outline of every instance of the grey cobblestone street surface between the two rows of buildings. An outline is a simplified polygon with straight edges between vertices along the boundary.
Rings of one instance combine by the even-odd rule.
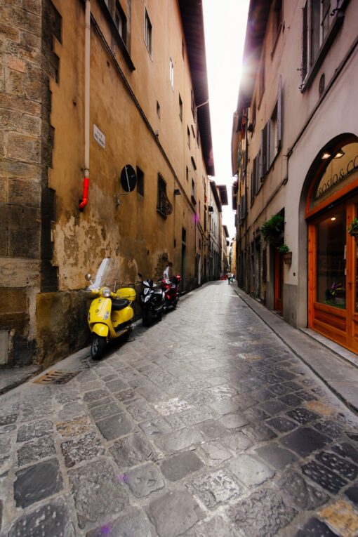
[[[357,417],[232,287],[133,337],[0,398],[2,536],[358,535]]]

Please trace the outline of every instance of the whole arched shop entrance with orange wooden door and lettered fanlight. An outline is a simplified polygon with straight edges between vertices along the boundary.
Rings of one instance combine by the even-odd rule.
[[[358,138],[324,147],[306,204],[308,326],[358,353],[357,243],[347,227],[358,216]]]

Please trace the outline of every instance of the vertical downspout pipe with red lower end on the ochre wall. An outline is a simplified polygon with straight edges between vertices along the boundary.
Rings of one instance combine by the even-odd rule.
[[[84,34],[84,188],[79,210],[84,211],[88,203],[89,189],[89,146],[90,146],[90,44],[91,44],[91,0],[86,0],[86,28]]]

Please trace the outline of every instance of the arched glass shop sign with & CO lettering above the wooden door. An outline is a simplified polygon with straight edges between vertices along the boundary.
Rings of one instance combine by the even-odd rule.
[[[340,159],[331,159],[322,175],[317,189],[314,192],[314,201],[318,201],[328,194],[332,194],[335,187],[351,177],[358,170],[358,144],[349,144],[342,147],[344,156]]]

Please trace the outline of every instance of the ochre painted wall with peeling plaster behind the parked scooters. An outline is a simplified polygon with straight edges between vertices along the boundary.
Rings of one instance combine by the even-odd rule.
[[[53,4],[62,17],[61,42],[54,40],[59,75],[58,81],[51,81],[54,150],[48,173],[49,186],[55,192],[51,239],[58,292],[37,296],[39,360],[46,364],[84,345],[88,304],[81,293],[74,291],[84,288],[84,274],[95,274],[103,258],[115,260],[120,284],[134,282],[138,271],[145,277],[159,277],[168,263],[173,264],[173,274],[180,273],[184,228],[187,290],[197,284],[197,253],[201,255],[201,281],[204,259],[208,262],[207,232],[206,239],[202,236],[208,177],[201,147],[192,132],[196,135],[192,79],[177,2],[131,3],[128,49],[134,71],[121,50],[114,47],[104,6],[96,0],[91,2],[95,20],[91,22],[91,180],[83,213],[78,205],[84,177],[84,4],[79,0],[53,0]],[[121,4],[128,17],[128,2]],[[144,41],[145,6],[152,22],[152,57]],[[179,95],[183,121],[179,117]],[[93,124],[105,134],[105,149],[93,138]],[[135,190],[120,196],[121,204],[116,207],[116,195],[123,194],[119,175],[126,164],[144,172],[144,197]],[[166,180],[167,196],[173,205],[167,218],[157,212],[158,173]],[[196,205],[192,203],[192,179]],[[173,194],[175,189],[180,195]],[[57,314],[50,314],[54,311]],[[61,321],[61,311],[71,322]],[[77,336],[66,340],[66,333],[72,330]]]

